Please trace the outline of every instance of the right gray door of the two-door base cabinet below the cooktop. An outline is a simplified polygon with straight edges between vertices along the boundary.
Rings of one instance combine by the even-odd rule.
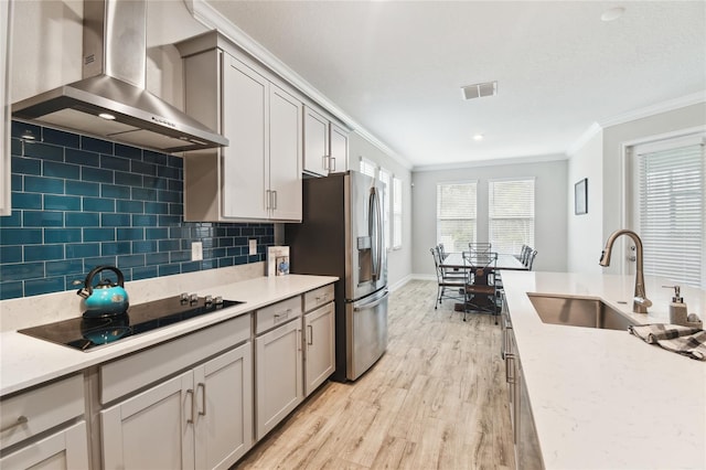
[[[194,370],[196,468],[227,469],[253,447],[253,343]]]

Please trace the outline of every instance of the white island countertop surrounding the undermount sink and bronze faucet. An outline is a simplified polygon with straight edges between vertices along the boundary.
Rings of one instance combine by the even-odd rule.
[[[599,298],[639,323],[668,323],[666,279],[632,313],[634,276],[503,271],[505,298],[547,469],[706,468],[706,362],[627,331],[545,324],[526,292]],[[682,289],[706,320],[706,292]]]

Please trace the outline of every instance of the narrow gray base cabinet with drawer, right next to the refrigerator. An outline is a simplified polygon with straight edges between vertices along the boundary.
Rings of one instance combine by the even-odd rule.
[[[304,396],[335,371],[335,306],[333,285],[304,293]]]

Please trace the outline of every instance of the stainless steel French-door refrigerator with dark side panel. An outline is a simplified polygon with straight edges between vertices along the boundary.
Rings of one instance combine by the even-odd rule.
[[[301,224],[287,224],[290,271],[338,276],[335,373],[354,381],[387,348],[384,183],[347,171],[303,180]]]

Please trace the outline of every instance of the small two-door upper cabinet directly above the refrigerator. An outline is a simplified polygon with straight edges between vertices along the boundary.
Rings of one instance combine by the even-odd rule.
[[[349,132],[322,114],[304,107],[304,171],[327,175],[345,171]]]

